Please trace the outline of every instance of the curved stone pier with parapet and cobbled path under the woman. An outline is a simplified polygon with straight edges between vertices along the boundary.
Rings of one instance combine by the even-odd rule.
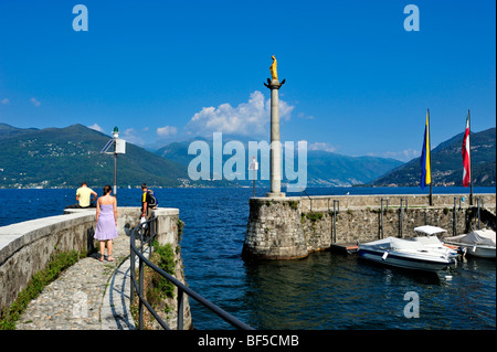
[[[115,262],[97,260],[99,255],[80,258],[33,300],[20,317],[17,329],[135,329],[129,309],[129,234],[137,225],[139,207],[118,207],[118,237],[113,241]],[[179,242],[178,209],[157,209],[160,244],[175,249],[175,276],[186,284]],[[46,268],[62,252],[94,253],[95,209],[66,210],[66,214],[0,227],[0,311],[8,309],[30,279]],[[126,282],[126,285],[125,285]],[[105,295],[104,295],[105,294]],[[176,301],[176,300],[175,300]],[[191,327],[188,298],[184,327]],[[80,307],[81,310],[74,312]],[[169,313],[176,327],[176,307]]]

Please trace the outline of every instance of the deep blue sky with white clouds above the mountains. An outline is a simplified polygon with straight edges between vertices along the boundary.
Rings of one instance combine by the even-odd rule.
[[[85,4],[88,31],[73,30]],[[420,11],[405,31],[404,7]],[[495,1],[0,1],[0,122],[82,124],[148,147],[214,131],[268,139],[271,55],[282,141],[420,156],[495,127]]]

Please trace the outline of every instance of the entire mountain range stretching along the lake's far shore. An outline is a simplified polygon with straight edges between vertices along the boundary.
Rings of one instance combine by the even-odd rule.
[[[441,143],[432,150],[432,179],[436,184],[457,185],[462,136]],[[82,125],[65,128],[15,128],[0,124],[0,188],[74,188],[86,181],[91,186],[112,184],[114,157],[101,153],[110,137]],[[197,154],[189,154],[192,141],[204,141],[210,149],[210,178],[212,173],[212,139],[171,142],[156,151],[126,143],[126,153],[117,158],[118,186],[138,186],[142,182],[155,186],[241,186],[245,181],[192,181],[188,166]],[[237,140],[246,147],[247,138],[223,136],[223,143]],[[247,148],[245,148],[247,150]],[[495,128],[472,134],[475,184],[495,185]],[[295,170],[297,170],[295,153]],[[237,156],[240,157],[240,156]],[[224,164],[232,154],[223,154]],[[252,159],[244,154],[246,171]],[[461,158],[459,158],[461,159]],[[417,161],[416,161],[417,160]],[[284,169],[285,170],[285,169]],[[493,171],[491,171],[493,170]],[[234,170],[233,170],[234,171]],[[246,171],[247,172],[247,171]],[[308,186],[415,185],[419,182],[419,158],[408,163],[376,157],[348,157],[334,152],[307,151]],[[240,178],[240,177],[239,177]],[[258,180],[260,178],[257,178]],[[286,182],[283,180],[282,182]],[[453,183],[451,183],[453,182]],[[257,181],[268,186],[268,181]]]

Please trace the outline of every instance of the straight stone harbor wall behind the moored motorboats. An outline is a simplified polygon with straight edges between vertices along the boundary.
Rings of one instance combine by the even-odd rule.
[[[429,205],[427,195],[419,194],[253,198],[242,255],[245,259],[302,258],[329,249],[335,243],[412,237],[414,227],[422,225],[445,228],[448,236],[458,235],[477,228],[477,198],[480,226],[495,230],[495,194],[474,195],[473,206],[467,196],[462,198],[433,195],[433,205]]]

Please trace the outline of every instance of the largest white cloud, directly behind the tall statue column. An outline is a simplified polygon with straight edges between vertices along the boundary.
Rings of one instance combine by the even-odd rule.
[[[279,119],[289,120],[294,106],[279,99]],[[247,103],[232,107],[229,103],[216,108],[203,107],[188,122],[190,134],[209,135],[212,132],[262,135],[271,121],[271,99],[255,90]]]

